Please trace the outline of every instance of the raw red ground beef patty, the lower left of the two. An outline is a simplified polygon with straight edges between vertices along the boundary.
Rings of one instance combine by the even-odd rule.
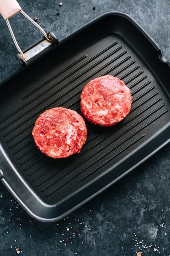
[[[63,158],[78,153],[86,141],[84,119],[67,108],[51,108],[35,121],[32,135],[37,147],[49,157]]]

